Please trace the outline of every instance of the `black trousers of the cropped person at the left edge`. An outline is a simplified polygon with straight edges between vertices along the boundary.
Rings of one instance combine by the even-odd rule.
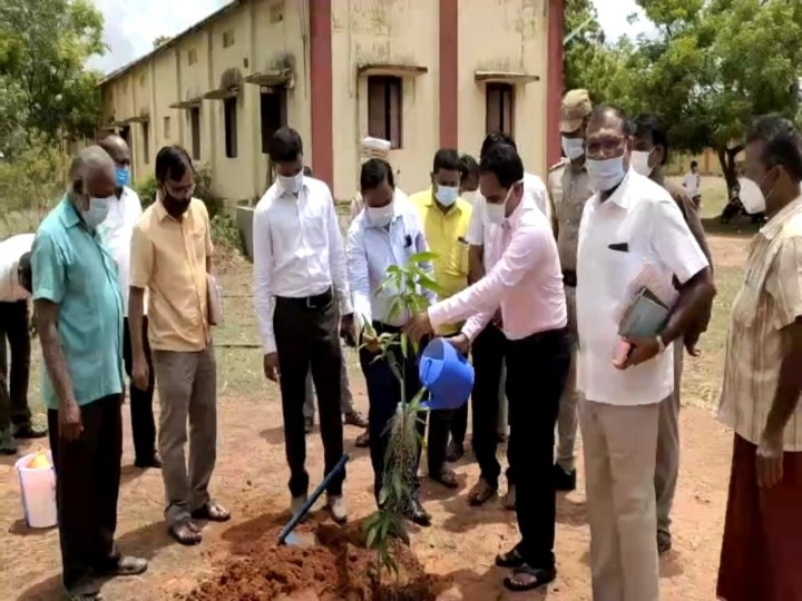
[[[0,303],[0,386],[8,386],[8,395],[0,394],[0,430],[9,427],[11,424],[26,425],[30,423],[30,408],[28,408],[30,333],[28,328],[28,300]],[[11,347],[10,362],[7,361],[6,341]],[[10,374],[9,363],[11,363]]]

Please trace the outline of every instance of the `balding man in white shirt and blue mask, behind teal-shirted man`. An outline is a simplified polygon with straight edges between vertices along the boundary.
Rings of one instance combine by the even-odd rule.
[[[141,217],[141,201],[139,195],[128,187],[130,180],[130,149],[126,141],[117,136],[106,136],[98,142],[115,161],[115,190],[116,201],[109,205],[108,216],[98,227],[106,247],[117,264],[120,290],[123,290],[123,357],[125,359],[128,378],[131,377],[133,355],[130,324],[128,322],[128,284],[130,280],[130,242],[134,226]],[[162,467],[162,459],[156,451],[156,422],[153,414],[153,396],[155,371],[150,356],[150,345],[147,337],[147,315],[143,315],[143,345],[148,365],[147,390],[129,386],[129,402],[131,415],[131,434],[134,436],[134,465],[146,470]]]

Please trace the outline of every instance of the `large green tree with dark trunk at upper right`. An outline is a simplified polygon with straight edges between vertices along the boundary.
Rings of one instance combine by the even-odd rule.
[[[661,115],[677,149],[712,147],[727,186],[754,117],[795,117],[802,76],[802,3],[788,0],[639,0],[657,32],[630,71],[634,110]]]

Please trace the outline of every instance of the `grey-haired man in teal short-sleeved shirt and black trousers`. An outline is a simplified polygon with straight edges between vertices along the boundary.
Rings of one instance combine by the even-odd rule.
[[[96,579],[135,575],[143,559],[114,544],[123,455],[123,297],[97,227],[115,193],[114,161],[90,146],[72,161],[65,198],[39,226],[31,264],[46,371],[63,584],[100,598]]]

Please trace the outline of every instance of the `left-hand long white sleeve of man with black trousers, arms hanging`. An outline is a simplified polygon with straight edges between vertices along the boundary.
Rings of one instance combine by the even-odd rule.
[[[275,333],[273,331],[273,312],[275,298],[272,289],[273,278],[273,242],[270,231],[267,210],[254,211],[253,223],[254,254],[254,308],[262,336],[262,348],[265,355],[276,352]]]

